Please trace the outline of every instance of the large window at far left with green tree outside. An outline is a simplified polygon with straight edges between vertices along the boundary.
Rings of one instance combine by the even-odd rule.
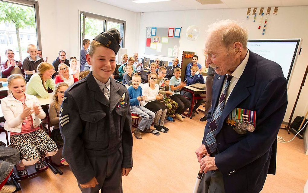
[[[23,11],[16,12],[14,10]],[[3,16],[0,17],[0,33],[5,33],[6,43],[6,45],[0,46],[2,61],[7,59],[6,49],[12,49],[15,53],[15,60],[19,61],[27,57],[28,44],[34,44],[41,48],[39,4],[37,1],[0,0],[0,15]],[[15,23],[20,25],[17,26]]]

